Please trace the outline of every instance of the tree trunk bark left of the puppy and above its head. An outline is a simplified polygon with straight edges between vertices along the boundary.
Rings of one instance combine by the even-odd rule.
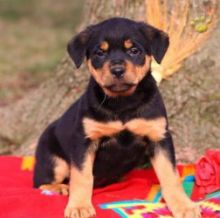
[[[144,20],[142,0],[87,0],[83,22],[79,29],[113,16]],[[32,154],[40,133],[52,120],[60,116],[78,98],[88,81],[85,66],[75,69],[66,55],[54,76],[38,89],[0,110],[0,144],[2,153]]]

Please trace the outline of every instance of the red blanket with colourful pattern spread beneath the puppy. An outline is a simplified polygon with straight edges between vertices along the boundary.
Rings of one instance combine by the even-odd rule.
[[[42,193],[38,189],[33,189],[32,170],[28,170],[27,166],[27,169],[22,170],[22,168],[25,168],[24,158],[0,157],[0,218],[63,217],[67,197],[50,192]],[[191,194],[194,167],[192,165],[179,166],[179,172],[182,177],[184,176],[187,193]],[[213,199],[210,202],[215,207],[209,208],[209,216],[206,217],[220,217],[220,194]],[[163,203],[154,203],[153,206],[148,203],[160,200],[158,180],[151,169],[134,170],[122,182],[95,189],[93,193],[97,218],[153,218],[159,216],[156,214],[171,217]],[[142,215],[145,215],[135,215],[140,214],[140,211]]]

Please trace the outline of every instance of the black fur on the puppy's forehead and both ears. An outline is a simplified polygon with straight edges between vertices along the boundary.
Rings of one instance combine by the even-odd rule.
[[[96,53],[98,44],[103,40],[110,39],[110,47],[115,50],[109,58],[117,59],[118,56],[122,58],[121,55],[125,55],[122,41],[127,38],[132,39],[139,49],[144,49],[145,54],[152,54],[158,63],[162,61],[169,46],[167,34],[150,25],[125,18],[112,18],[87,27],[71,40],[67,49],[76,66],[80,67],[84,57],[91,58]],[[106,58],[95,59],[94,66],[100,67]],[[138,58],[136,64],[141,63],[143,63],[143,59],[141,61]]]

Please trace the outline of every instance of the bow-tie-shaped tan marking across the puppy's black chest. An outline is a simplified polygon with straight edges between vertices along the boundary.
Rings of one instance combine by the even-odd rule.
[[[87,138],[98,140],[101,137],[111,137],[125,129],[135,135],[149,137],[157,142],[164,138],[166,133],[166,119],[164,117],[146,120],[133,119],[123,124],[121,121],[98,122],[90,118],[83,119],[83,127]]]

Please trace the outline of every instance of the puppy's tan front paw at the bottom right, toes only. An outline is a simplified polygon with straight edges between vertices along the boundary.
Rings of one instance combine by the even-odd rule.
[[[175,205],[173,215],[175,218],[201,218],[199,206],[191,201],[187,204]]]

